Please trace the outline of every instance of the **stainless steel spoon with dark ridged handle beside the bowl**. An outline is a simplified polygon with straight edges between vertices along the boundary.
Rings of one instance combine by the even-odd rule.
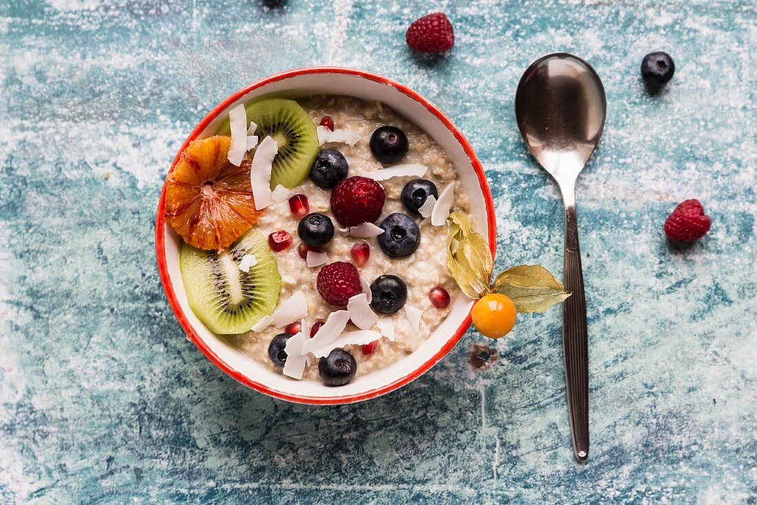
[[[516,118],[525,145],[554,178],[565,204],[563,277],[572,296],[562,304],[562,348],[573,452],[579,461],[589,456],[589,367],[575,180],[600,141],[605,109],[597,72],[564,52],[534,61],[516,92]]]

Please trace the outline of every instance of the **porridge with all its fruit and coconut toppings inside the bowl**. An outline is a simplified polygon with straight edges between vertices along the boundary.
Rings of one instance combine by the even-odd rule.
[[[237,105],[181,153],[165,206],[192,311],[294,380],[338,387],[392,365],[460,293],[444,246],[450,212],[469,212],[456,168],[379,102]]]

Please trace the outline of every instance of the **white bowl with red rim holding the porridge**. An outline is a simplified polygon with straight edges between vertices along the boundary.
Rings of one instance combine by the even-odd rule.
[[[181,152],[195,139],[210,136],[227,118],[230,108],[262,96],[298,99],[310,95],[343,95],[383,102],[397,114],[425,130],[451,158],[460,182],[468,193],[475,230],[488,237],[491,251],[495,246],[494,202],[484,170],[463,133],[442,111],[407,86],[378,74],[339,67],[306,67],[266,77],[229,96],[200,121],[187,137]],[[179,154],[170,170],[176,165]],[[160,280],[166,296],[189,339],[220,369],[237,381],[272,397],[298,403],[352,403],[378,397],[417,378],[430,369],[463,337],[470,325],[472,301],[460,296],[444,322],[424,343],[406,358],[385,369],[372,372],[341,387],[328,387],[319,381],[295,381],[254,362],[223,338],[208,331],[189,308],[182,275],[179,271],[181,238],[164,217],[166,188],[157,207],[155,247]],[[440,251],[440,254],[443,253]],[[286,272],[282,272],[285,274]]]

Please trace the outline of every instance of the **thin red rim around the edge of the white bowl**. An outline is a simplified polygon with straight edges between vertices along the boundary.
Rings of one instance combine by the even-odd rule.
[[[231,105],[236,100],[240,99],[241,96],[246,95],[247,93],[250,93],[252,90],[260,88],[260,86],[265,86],[266,84],[273,83],[279,80],[285,80],[289,79],[291,77],[295,77],[298,75],[303,74],[346,74],[351,76],[357,76],[357,77],[363,77],[363,79],[372,80],[378,83],[383,83],[388,86],[393,87],[394,89],[397,89],[397,91],[400,91],[400,93],[403,93],[406,96],[409,96],[411,99],[415,100],[416,102],[419,102],[421,105],[423,105],[426,110],[431,112],[431,114],[434,114],[436,118],[438,118],[439,121],[441,121],[442,124],[444,124],[445,127],[447,127],[447,130],[450,130],[450,132],[455,136],[456,140],[460,143],[461,146],[463,146],[463,150],[466,152],[466,155],[468,156],[471,165],[473,167],[473,170],[476,173],[476,176],[478,177],[478,183],[481,187],[481,193],[484,195],[484,204],[486,207],[486,213],[487,213],[487,226],[488,226],[488,235],[489,235],[489,248],[491,249],[492,255],[494,255],[496,250],[496,238],[497,238],[497,221],[494,216],[494,200],[491,196],[491,190],[489,189],[489,185],[486,181],[486,174],[484,174],[484,168],[481,167],[481,162],[478,161],[478,158],[475,155],[475,152],[473,152],[473,148],[471,147],[468,140],[466,140],[466,137],[463,136],[463,133],[453,124],[453,122],[450,120],[450,118],[447,118],[447,115],[444,114],[441,110],[439,110],[436,105],[432,104],[428,101],[428,99],[425,99],[423,96],[419,95],[413,89],[410,89],[407,86],[404,86],[403,84],[397,83],[394,80],[388,79],[387,77],[384,77],[382,75],[378,74],[372,74],[371,72],[361,71],[354,68],[344,68],[344,67],[304,67],[304,68],[297,68],[290,71],[284,71],[279,74],[273,74],[269,77],[265,77],[261,80],[258,80],[255,83],[250,84],[249,86],[245,86],[242,89],[239,89],[237,92],[232,93],[229,98],[223,100],[219,105],[216,106],[216,108],[213,108],[212,111],[210,111],[209,114],[207,114],[202,121],[195,127],[194,130],[192,130],[192,133],[189,134],[187,137],[187,140],[185,140],[184,144],[182,145],[181,149],[179,149],[179,152],[176,154],[176,157],[173,158],[173,163],[171,163],[171,168],[168,171],[168,174],[173,171],[173,167],[176,165],[176,162],[179,161],[179,155],[181,152],[185,149],[186,146],[192,140],[195,140],[200,133],[207,127],[208,124],[210,124],[210,121],[213,121],[219,114],[221,114],[224,110],[226,110],[229,105]],[[182,326],[190,340],[192,340],[193,343],[195,343],[195,346],[201,350],[201,352],[207,356],[207,359],[210,359],[211,362],[213,362],[218,368],[223,370],[223,372],[226,372],[226,374],[230,375],[232,378],[234,378],[236,381],[241,382],[241,384],[245,384],[245,386],[251,387],[252,389],[256,391],[260,391],[260,393],[267,394],[271,397],[281,398],[282,400],[288,400],[295,403],[310,403],[314,405],[329,405],[329,404],[341,404],[341,403],[354,403],[361,400],[369,400],[370,398],[378,397],[382,394],[386,394],[390,391],[394,391],[395,389],[402,387],[403,385],[409,383],[410,381],[413,381],[414,379],[418,378],[420,375],[428,371],[428,369],[431,368],[431,366],[435,365],[436,362],[438,362],[441,358],[443,358],[450,350],[455,347],[455,344],[463,337],[464,334],[466,334],[466,331],[468,331],[468,328],[471,324],[471,315],[470,311],[468,312],[468,315],[466,315],[466,318],[463,320],[462,324],[459,325],[459,328],[455,331],[453,335],[450,336],[449,340],[447,340],[446,343],[444,343],[444,346],[441,347],[441,349],[435,353],[434,356],[431,356],[430,359],[426,360],[422,365],[420,365],[417,369],[413,370],[413,372],[410,372],[409,374],[405,375],[402,378],[397,379],[396,381],[391,382],[390,384],[385,384],[381,387],[376,387],[375,389],[372,389],[370,391],[365,391],[360,394],[349,394],[344,396],[335,396],[335,397],[313,397],[313,396],[300,396],[295,394],[288,394],[284,393],[282,391],[274,390],[270,387],[267,387],[264,384],[260,384],[259,382],[251,380],[251,378],[247,377],[246,375],[241,374],[240,372],[237,372],[236,370],[232,369],[231,366],[229,366],[226,362],[224,362],[222,359],[220,359],[219,356],[217,356],[216,353],[213,353],[213,350],[210,349],[210,347],[207,346],[207,344],[204,342],[204,340],[201,339],[201,337],[198,335],[198,333],[195,331],[195,328],[192,327],[192,325],[189,323],[188,319],[186,318],[186,315],[184,314],[184,311],[182,310],[181,306],[179,305],[179,300],[176,298],[176,292],[173,290],[173,284],[171,284],[170,277],[168,274],[168,266],[166,263],[166,243],[165,243],[165,215],[164,215],[164,206],[166,202],[166,183],[163,185],[163,190],[160,193],[160,202],[158,202],[157,205],[157,218],[155,222],[155,252],[157,256],[157,267],[160,271],[160,281],[163,283],[163,288],[166,292],[166,296],[168,298],[168,303],[170,303],[171,309],[173,309],[173,313],[176,315],[176,318],[179,320],[179,324]]]

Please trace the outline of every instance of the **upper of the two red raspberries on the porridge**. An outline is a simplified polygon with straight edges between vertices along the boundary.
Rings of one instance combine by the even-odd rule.
[[[332,191],[334,217],[342,226],[372,223],[384,208],[384,188],[368,177],[342,179]]]

